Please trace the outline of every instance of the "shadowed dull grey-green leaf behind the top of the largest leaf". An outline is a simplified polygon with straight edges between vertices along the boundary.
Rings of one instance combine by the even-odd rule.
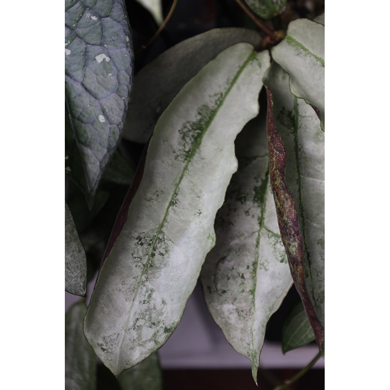
[[[248,42],[256,46],[260,41],[261,36],[254,30],[220,28],[183,40],[159,55],[134,78],[123,137],[146,143],[158,117],[204,65],[234,43]]]

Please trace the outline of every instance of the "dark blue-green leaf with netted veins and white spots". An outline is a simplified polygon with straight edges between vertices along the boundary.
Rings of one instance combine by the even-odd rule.
[[[123,0],[65,0],[67,170],[90,207],[123,132],[132,53]]]

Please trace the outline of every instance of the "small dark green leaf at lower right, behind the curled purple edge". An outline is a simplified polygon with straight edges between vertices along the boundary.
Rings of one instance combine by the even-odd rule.
[[[313,329],[306,315],[302,301],[294,305],[283,323],[282,350],[283,353],[303,347],[315,340]]]

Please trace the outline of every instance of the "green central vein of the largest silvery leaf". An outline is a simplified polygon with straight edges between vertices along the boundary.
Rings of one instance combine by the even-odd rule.
[[[139,287],[141,285],[141,280],[142,280],[143,276],[145,275],[145,273],[147,271],[150,259],[152,258],[152,253],[156,250],[156,242],[157,242],[158,236],[161,234],[162,228],[164,227],[164,224],[165,224],[165,222],[167,220],[167,217],[168,217],[168,214],[169,214],[169,210],[171,208],[172,201],[174,200],[174,197],[178,193],[178,189],[180,187],[181,181],[183,180],[183,177],[184,177],[185,173],[187,172],[188,166],[189,166],[191,160],[193,159],[193,157],[195,156],[195,153],[198,150],[198,148],[199,148],[199,146],[200,146],[200,144],[202,142],[204,134],[209,129],[209,127],[212,124],[212,122],[213,122],[215,116],[217,115],[219,109],[221,108],[221,106],[224,103],[225,99],[227,98],[227,96],[231,92],[232,88],[234,87],[236,81],[238,80],[238,78],[240,77],[241,73],[244,71],[246,66],[249,64],[249,62],[253,61],[255,58],[256,58],[256,53],[251,53],[248,56],[248,58],[243,62],[243,64],[240,66],[240,68],[238,69],[237,73],[234,75],[234,78],[232,79],[228,89],[225,91],[224,95],[222,96],[222,98],[218,102],[217,106],[215,107],[212,115],[209,117],[208,121],[206,122],[200,137],[197,137],[195,142],[194,142],[194,144],[192,145],[191,151],[190,151],[190,153],[188,155],[188,159],[187,159],[187,161],[184,164],[183,170],[182,170],[181,175],[180,175],[180,177],[179,177],[179,179],[178,179],[178,181],[176,183],[176,186],[174,188],[174,191],[173,191],[173,194],[171,196],[171,199],[168,202],[168,207],[165,210],[165,214],[164,214],[164,216],[162,218],[162,221],[158,225],[158,228],[157,228],[157,231],[156,231],[156,235],[155,235],[155,237],[153,239],[153,242],[152,242],[152,245],[151,245],[151,249],[149,250],[148,257],[147,257],[146,262],[145,262],[145,264],[143,266],[142,272],[141,272],[141,274],[139,276],[139,280],[138,280],[138,283],[137,283],[137,286],[136,286],[136,289],[135,289],[135,293],[134,293],[134,298],[133,298],[131,307],[129,309],[129,312],[128,312],[128,315],[127,315],[127,318],[126,318],[126,328],[127,328],[127,325],[129,323],[129,320],[130,320],[130,317],[131,317],[131,313],[132,313],[133,308],[134,308],[136,296],[137,296],[137,293],[139,291]],[[147,169],[145,167],[145,172],[146,171],[147,171]],[[125,338],[125,333],[126,332],[124,331],[123,335],[122,335],[122,338],[121,338],[121,340],[120,340],[120,342],[118,344],[117,351],[120,351],[120,349],[122,347],[122,344],[123,344],[123,341],[124,341],[124,338]],[[116,355],[117,355],[116,366],[118,366],[119,354],[120,353],[116,353]]]

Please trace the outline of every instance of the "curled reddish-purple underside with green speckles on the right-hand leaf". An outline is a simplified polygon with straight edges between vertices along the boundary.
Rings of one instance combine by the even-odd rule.
[[[275,200],[277,220],[287,258],[290,265],[292,279],[298,291],[306,314],[312,325],[317,344],[322,349],[323,329],[315,315],[312,301],[306,289],[304,279],[304,257],[302,236],[299,230],[298,217],[296,214],[292,194],[285,182],[286,151],[273,120],[272,93],[267,91],[267,136],[268,153],[270,159],[270,181]]]

